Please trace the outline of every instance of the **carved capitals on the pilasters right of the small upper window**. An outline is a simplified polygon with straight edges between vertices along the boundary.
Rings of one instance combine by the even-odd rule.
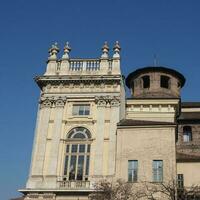
[[[96,96],[95,103],[97,106],[119,106],[120,97],[119,96]]]

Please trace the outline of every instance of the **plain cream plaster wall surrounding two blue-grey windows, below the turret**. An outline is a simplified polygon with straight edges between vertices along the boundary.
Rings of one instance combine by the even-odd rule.
[[[116,178],[127,181],[128,160],[138,160],[138,182],[152,182],[152,162],[163,160],[163,179],[169,181],[176,177],[175,155],[175,127],[118,129]]]

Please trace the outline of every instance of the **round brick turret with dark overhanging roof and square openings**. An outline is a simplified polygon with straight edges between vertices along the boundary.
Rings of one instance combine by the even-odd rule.
[[[179,98],[184,76],[166,67],[144,67],[130,73],[126,85],[134,98]]]

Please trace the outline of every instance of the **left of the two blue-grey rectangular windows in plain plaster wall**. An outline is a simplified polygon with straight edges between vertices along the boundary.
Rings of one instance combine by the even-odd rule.
[[[129,160],[128,161],[128,181],[136,182],[138,179],[138,161]]]

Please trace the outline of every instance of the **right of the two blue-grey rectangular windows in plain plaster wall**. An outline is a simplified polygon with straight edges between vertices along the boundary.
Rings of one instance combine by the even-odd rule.
[[[153,161],[153,182],[163,181],[163,161],[154,160]]]

